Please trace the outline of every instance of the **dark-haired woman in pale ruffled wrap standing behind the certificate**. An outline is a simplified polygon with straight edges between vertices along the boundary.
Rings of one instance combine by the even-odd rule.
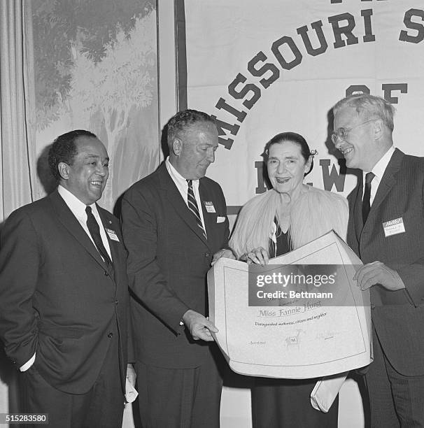
[[[315,154],[294,132],[277,134],[267,143],[264,161],[272,189],[241,209],[229,241],[236,257],[264,265],[269,258],[295,250],[331,229],[346,238],[346,199],[303,183]],[[317,380],[256,378],[253,426],[337,427],[338,400],[328,413],[316,411],[310,404]]]

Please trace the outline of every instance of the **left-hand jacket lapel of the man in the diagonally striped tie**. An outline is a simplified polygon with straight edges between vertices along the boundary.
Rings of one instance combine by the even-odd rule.
[[[159,168],[160,169],[158,172],[160,178],[160,186],[162,188],[162,191],[167,194],[167,199],[169,203],[174,207],[176,213],[181,217],[181,219],[183,219],[183,221],[188,225],[188,227],[192,229],[192,231],[199,237],[199,239],[201,239],[206,245],[208,245],[208,242],[203,236],[202,230],[199,228],[199,226],[197,226],[195,216],[188,209],[188,206],[185,204],[183,197],[181,197],[181,193],[177,189],[171,176],[169,176],[167,166],[163,162]]]

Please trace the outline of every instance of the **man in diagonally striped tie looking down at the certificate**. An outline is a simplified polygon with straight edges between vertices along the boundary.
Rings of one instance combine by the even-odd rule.
[[[185,110],[169,120],[167,138],[169,157],[122,200],[141,421],[218,427],[222,380],[209,343],[217,329],[206,318],[206,273],[229,227],[222,190],[204,177],[218,131],[206,113]]]

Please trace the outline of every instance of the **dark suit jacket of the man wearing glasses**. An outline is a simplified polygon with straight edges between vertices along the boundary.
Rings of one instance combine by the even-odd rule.
[[[424,374],[424,158],[395,150],[362,228],[362,180],[348,197],[348,244],[364,264],[379,260],[406,290],[371,287],[372,321],[393,367]],[[385,236],[383,222],[402,217],[405,232]]]

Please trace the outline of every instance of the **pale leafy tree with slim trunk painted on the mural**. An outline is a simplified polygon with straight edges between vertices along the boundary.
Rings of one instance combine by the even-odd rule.
[[[151,11],[136,20],[127,36],[124,31],[119,31],[114,43],[106,45],[99,62],[92,61],[81,46],[75,45],[71,49],[74,55],[73,82],[69,92],[72,110],[87,117],[101,114],[112,162],[119,136],[129,126],[132,108],[149,106],[153,99],[155,76],[151,75],[150,69],[155,65],[155,45],[148,35],[153,34],[155,26],[155,13]],[[112,168],[106,185],[105,201],[112,199],[114,171]]]

